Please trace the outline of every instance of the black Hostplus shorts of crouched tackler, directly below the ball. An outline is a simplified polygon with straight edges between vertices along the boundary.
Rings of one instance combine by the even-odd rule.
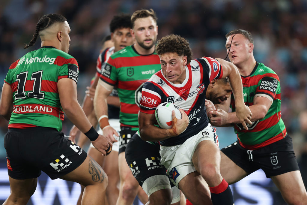
[[[158,142],[150,144],[134,134],[126,146],[126,162],[138,183],[154,175],[166,175],[166,169],[160,161],[160,145]]]

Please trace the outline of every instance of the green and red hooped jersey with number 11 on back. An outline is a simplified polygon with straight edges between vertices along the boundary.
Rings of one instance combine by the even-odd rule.
[[[8,128],[42,126],[61,131],[64,112],[57,81],[70,78],[77,83],[78,75],[76,59],[52,46],[31,51],[15,61],[4,80],[11,86],[14,100]]]

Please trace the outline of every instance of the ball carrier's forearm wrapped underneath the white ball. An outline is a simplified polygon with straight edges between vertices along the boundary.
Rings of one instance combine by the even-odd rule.
[[[167,130],[169,129],[161,129],[152,124],[146,124],[140,128],[140,135],[142,140],[145,141],[161,141],[172,137],[169,136],[170,133]]]

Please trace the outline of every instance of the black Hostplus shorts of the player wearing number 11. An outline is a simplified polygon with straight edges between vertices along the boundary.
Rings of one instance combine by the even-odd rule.
[[[8,174],[13,179],[37,178],[44,171],[57,179],[87,157],[79,146],[54,128],[10,128],[4,137]]]

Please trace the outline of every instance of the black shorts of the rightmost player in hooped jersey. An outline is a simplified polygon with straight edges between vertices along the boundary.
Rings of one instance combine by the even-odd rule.
[[[245,149],[236,141],[221,151],[248,174],[262,169],[266,177],[270,178],[299,170],[289,135],[256,150]]]

